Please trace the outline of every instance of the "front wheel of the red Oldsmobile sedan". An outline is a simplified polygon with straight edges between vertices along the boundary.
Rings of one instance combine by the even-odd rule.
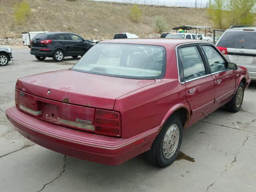
[[[240,93],[242,93],[242,96],[240,95]],[[233,113],[238,112],[242,106],[243,100],[244,100],[244,84],[241,82],[236,90],[236,93],[230,100],[230,102],[226,103],[224,107],[229,112],[233,112]]]

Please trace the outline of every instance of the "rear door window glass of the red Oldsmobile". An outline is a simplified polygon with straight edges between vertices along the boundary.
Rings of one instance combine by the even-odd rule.
[[[185,81],[206,74],[204,62],[196,46],[180,48],[179,54],[182,61]]]

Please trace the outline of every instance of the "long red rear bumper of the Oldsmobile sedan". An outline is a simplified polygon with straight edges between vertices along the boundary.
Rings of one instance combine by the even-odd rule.
[[[114,138],[58,126],[34,118],[16,107],[6,110],[16,130],[29,140],[62,154],[117,165],[150,149],[159,127],[131,138]]]

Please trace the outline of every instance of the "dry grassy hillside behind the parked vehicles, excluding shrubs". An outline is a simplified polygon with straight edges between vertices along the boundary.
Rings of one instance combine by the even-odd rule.
[[[13,16],[15,2],[18,0],[2,0],[0,4],[0,37],[41,30],[75,32],[88,39],[113,38],[118,32],[146,37],[154,33],[152,20],[156,15],[166,18],[170,29],[184,24],[212,25],[204,9],[139,6],[143,16],[135,23],[129,17],[131,5],[87,0],[28,0],[32,14],[19,25]]]

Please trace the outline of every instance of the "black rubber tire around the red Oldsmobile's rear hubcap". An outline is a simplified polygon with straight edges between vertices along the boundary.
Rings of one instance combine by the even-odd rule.
[[[176,150],[174,150],[172,152],[172,154],[170,154],[170,157],[166,158],[164,156],[164,150],[163,150],[164,136],[165,136],[167,130],[172,127],[172,125],[178,126],[179,140],[178,140],[178,145],[176,147]],[[171,134],[169,134],[169,135],[171,135]],[[168,139],[169,139],[169,137],[168,137]],[[169,120],[162,127],[160,133],[154,140],[150,150],[145,152],[146,159],[150,162],[150,164],[157,166],[157,167],[164,168],[164,167],[172,164],[172,162],[174,162],[176,160],[178,153],[180,151],[181,142],[182,142],[182,122],[181,122],[179,116],[171,116],[169,118]],[[167,144],[167,142],[165,142],[165,143]],[[170,141],[168,143],[170,144]],[[169,145],[166,148],[168,148],[168,147],[171,148],[171,146],[169,146]]]

